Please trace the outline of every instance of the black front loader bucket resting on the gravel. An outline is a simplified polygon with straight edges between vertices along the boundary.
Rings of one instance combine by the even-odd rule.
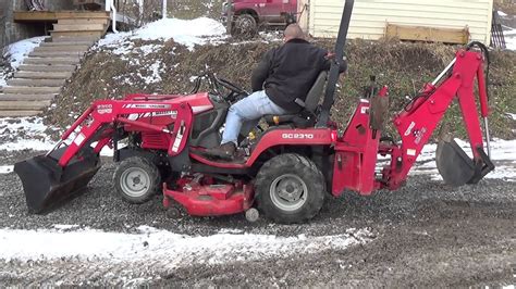
[[[97,153],[82,149],[65,167],[58,164],[66,146],[49,155],[38,155],[14,165],[22,180],[29,213],[46,213],[77,196],[100,168]]]

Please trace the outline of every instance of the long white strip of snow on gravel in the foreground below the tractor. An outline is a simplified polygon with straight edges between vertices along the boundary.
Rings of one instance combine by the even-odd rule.
[[[142,231],[144,230],[144,231]],[[0,229],[0,259],[40,261],[98,257],[111,263],[168,260],[171,267],[181,264],[221,264],[234,261],[287,257],[294,254],[342,250],[371,239],[367,229],[354,229],[333,236],[278,237],[254,234],[179,235],[152,227],[140,234],[94,229],[21,230]],[[47,243],[51,246],[40,246]]]

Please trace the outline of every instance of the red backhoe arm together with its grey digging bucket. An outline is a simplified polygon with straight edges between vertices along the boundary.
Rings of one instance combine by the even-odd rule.
[[[477,46],[483,53],[471,51]],[[463,121],[469,137],[472,159],[463,151],[450,134],[443,134],[435,152],[437,167],[444,181],[452,186],[476,184],[494,165],[489,156],[488,92],[483,64],[489,54],[487,48],[472,42],[465,50],[457,51],[455,59],[420,93],[408,103],[395,118],[401,146],[392,146],[383,151],[392,154],[390,167],[384,169],[383,183],[396,189],[403,185],[410,167],[416,162],[423,146],[429,141],[439,122],[453,100],[458,100]],[[484,152],[482,129],[475,96],[475,80],[478,83],[478,101],[484,121],[487,151]]]

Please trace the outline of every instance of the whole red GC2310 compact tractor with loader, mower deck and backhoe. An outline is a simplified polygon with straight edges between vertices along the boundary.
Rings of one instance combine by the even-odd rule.
[[[131,203],[146,202],[159,192],[164,206],[176,202],[191,215],[246,212],[249,219],[255,219],[259,212],[279,223],[305,222],[318,214],[327,197],[340,196],[343,190],[368,196],[403,186],[454,99],[458,100],[469,135],[472,160],[453,138],[445,137],[438,146],[437,165],[447,184],[478,183],[494,168],[484,152],[474,95],[477,79],[489,152],[486,47],[471,43],[456,52],[437,79],[394,117],[401,141],[386,141],[381,134],[386,87],[371,86],[346,127],[329,118],[352,9],[353,0],[347,0],[335,63],[316,80],[304,110],[292,115],[267,115],[268,128],[244,138],[232,161],[205,154],[207,148],[220,143],[231,103],[245,96],[228,80],[207,77],[213,92],[98,100],[52,151],[15,164],[29,211],[47,212],[84,189],[100,167],[100,150],[109,146],[119,162],[113,178],[115,190]],[[390,158],[390,162],[380,166],[378,155]]]

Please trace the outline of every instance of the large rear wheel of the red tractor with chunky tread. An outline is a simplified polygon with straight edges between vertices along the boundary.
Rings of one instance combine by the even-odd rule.
[[[255,183],[258,209],[277,223],[306,222],[324,202],[324,177],[306,156],[285,153],[261,166]]]

